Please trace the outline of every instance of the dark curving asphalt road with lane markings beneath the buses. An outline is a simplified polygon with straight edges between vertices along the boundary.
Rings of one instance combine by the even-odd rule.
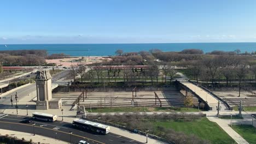
[[[14,115],[0,115],[0,129],[8,129],[14,131],[22,131],[25,133],[33,134],[33,125],[32,123],[25,124],[20,123],[23,119],[28,117],[25,116],[14,116]],[[91,133],[89,131],[84,131],[82,129],[75,129],[72,127],[71,123],[56,121],[53,123],[50,122],[41,122],[34,121],[34,132],[36,135],[42,135],[47,137],[52,137],[57,140],[62,140],[71,143],[78,143],[80,140],[85,140],[89,143],[141,143],[127,137],[119,136],[113,133],[107,135],[99,135],[96,133]],[[69,134],[69,131],[72,131],[72,134]],[[111,131],[111,129],[110,129]],[[33,139],[33,136],[31,136]]]

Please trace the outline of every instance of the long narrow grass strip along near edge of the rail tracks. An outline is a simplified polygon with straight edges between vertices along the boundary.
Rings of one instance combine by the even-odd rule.
[[[145,107],[146,112],[196,112],[194,107]],[[91,112],[144,112],[144,107],[106,107],[106,108],[92,108]]]

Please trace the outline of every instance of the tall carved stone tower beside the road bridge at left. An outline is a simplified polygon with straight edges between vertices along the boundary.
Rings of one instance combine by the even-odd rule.
[[[48,110],[51,100],[51,74],[49,70],[38,70],[36,76],[37,110]]]

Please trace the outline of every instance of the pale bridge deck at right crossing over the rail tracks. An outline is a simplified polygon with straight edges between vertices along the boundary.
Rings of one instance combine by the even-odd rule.
[[[191,92],[195,97],[199,99],[200,103],[204,103],[207,110],[217,111],[216,106],[218,106],[218,101],[222,110],[231,110],[232,107],[226,103],[223,99],[219,98],[217,95],[213,94],[208,89],[197,85],[197,83],[190,82],[187,80],[177,81],[176,83],[181,86],[186,92]]]

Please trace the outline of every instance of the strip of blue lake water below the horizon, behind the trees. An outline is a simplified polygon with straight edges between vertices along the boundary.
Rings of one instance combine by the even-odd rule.
[[[148,51],[182,51],[184,49],[201,49],[203,52],[213,50],[241,52],[256,51],[256,43],[167,43],[167,44],[17,44],[0,45],[0,50],[47,50],[51,53],[66,53],[71,56],[108,56],[115,55],[118,49],[124,52]]]

